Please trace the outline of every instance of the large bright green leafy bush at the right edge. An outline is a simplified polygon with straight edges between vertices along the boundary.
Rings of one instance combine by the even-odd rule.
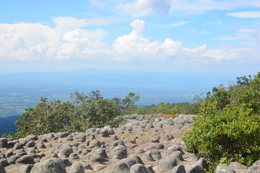
[[[193,129],[183,140],[212,167],[237,161],[247,166],[260,158],[260,73],[237,78],[229,87],[213,87],[200,103]]]

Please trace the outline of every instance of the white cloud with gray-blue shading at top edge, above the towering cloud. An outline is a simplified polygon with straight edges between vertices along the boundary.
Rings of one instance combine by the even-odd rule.
[[[123,14],[134,17],[156,15],[166,16],[169,13],[169,0],[135,0],[133,2],[121,3],[117,9]]]

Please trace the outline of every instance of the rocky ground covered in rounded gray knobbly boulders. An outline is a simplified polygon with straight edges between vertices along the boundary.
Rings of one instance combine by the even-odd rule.
[[[186,151],[182,135],[192,115],[127,115],[119,128],[0,138],[0,173],[203,173],[207,164]],[[216,173],[260,173],[237,162]]]

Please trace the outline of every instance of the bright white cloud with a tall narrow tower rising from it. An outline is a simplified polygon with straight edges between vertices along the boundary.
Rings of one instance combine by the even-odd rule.
[[[145,21],[135,20],[130,24],[133,31],[129,35],[120,36],[115,40],[114,51],[117,55],[130,58],[168,58],[177,55],[182,45],[171,39],[165,39],[163,43],[150,42],[140,34],[145,27]]]

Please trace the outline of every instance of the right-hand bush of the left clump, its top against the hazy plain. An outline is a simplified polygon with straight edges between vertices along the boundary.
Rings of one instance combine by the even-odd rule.
[[[75,96],[75,97],[74,97]],[[71,95],[74,108],[70,126],[65,129],[69,131],[85,131],[89,128],[102,128],[110,125],[115,127],[119,115],[119,107],[109,99],[104,99],[100,92],[92,91],[89,95],[75,92]]]

